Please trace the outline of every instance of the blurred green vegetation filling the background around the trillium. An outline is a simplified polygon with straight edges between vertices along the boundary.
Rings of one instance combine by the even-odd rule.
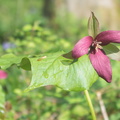
[[[64,8],[57,9],[63,4]],[[34,55],[58,50],[70,51],[77,40],[87,35],[87,18],[76,16],[66,10],[65,1],[54,0],[5,0],[0,1],[0,55]],[[114,1],[116,20],[113,28],[120,29],[119,1]],[[111,8],[112,9],[112,8]],[[106,10],[106,9],[105,9]],[[96,16],[109,22],[106,14],[96,9]],[[108,12],[108,11],[107,11]],[[100,16],[101,15],[101,16]],[[111,19],[111,18],[109,18]],[[107,21],[108,20],[108,21]],[[101,21],[99,21],[101,23]],[[102,30],[110,29],[103,23]],[[91,87],[90,95],[98,120],[103,120],[99,102],[110,120],[120,119],[120,63],[111,61],[113,81],[108,84],[99,79]],[[54,86],[46,86],[24,93],[29,85],[31,72],[12,66],[7,69],[8,77],[1,79],[0,116],[6,120],[90,120],[90,111],[84,94],[67,92]],[[101,95],[99,99],[98,94]]]

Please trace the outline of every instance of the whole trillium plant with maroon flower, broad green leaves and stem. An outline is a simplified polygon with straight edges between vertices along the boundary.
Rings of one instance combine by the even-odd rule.
[[[99,22],[94,13],[88,20],[88,33],[80,39],[69,53],[58,51],[40,55],[16,56],[6,54],[0,57],[1,69],[17,65],[32,71],[32,80],[25,92],[46,85],[55,85],[67,91],[84,91],[93,120],[96,115],[91,103],[88,89],[98,79],[112,81],[110,59],[120,61],[120,31],[99,32]],[[7,73],[1,71],[1,78]]]

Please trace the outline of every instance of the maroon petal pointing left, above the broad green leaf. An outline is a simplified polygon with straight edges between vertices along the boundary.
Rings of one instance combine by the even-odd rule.
[[[91,36],[86,36],[79,40],[73,50],[72,50],[72,56],[73,58],[79,58],[84,54],[87,54],[89,51],[89,47],[91,46],[93,42],[93,38]]]

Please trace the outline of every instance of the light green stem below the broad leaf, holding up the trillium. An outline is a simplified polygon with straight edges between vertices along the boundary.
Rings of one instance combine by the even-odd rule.
[[[90,107],[90,111],[91,111],[91,114],[92,114],[92,119],[96,120],[96,115],[95,115],[95,111],[94,111],[94,108],[93,108],[93,105],[92,105],[92,102],[91,102],[91,99],[90,99],[90,95],[89,95],[87,90],[85,90],[84,93],[85,93],[87,102],[88,102],[89,107]]]

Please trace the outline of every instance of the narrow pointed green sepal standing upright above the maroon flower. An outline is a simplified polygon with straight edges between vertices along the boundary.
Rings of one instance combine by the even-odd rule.
[[[98,33],[99,33],[99,22],[95,17],[94,13],[91,12],[91,16],[89,17],[88,20],[88,34],[93,38],[95,38]]]

